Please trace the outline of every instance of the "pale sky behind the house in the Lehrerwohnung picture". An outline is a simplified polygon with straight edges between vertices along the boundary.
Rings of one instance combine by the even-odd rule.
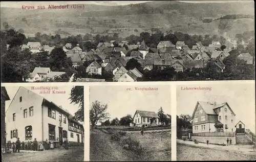
[[[182,87],[186,87],[183,85]],[[187,87],[198,87],[198,85],[187,85]],[[202,86],[201,86],[202,87]],[[236,123],[242,121],[245,128],[249,128],[255,133],[255,85],[251,83],[204,85],[212,87],[209,90],[181,90],[177,86],[177,115],[193,114],[197,101],[217,102],[221,104],[227,102],[236,114]],[[185,101],[185,102],[184,102]]]

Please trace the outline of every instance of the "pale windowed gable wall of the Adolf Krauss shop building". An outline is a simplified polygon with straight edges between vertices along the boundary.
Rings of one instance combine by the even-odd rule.
[[[22,97],[22,102],[19,102],[19,97]],[[6,107],[6,138],[7,141],[16,142],[16,138],[11,138],[11,130],[18,130],[20,141],[33,141],[34,138],[41,140],[42,125],[41,125],[41,103],[42,97],[34,92],[20,87],[11,102],[9,108]],[[29,107],[34,107],[33,116],[29,115]],[[24,109],[28,109],[27,118],[24,118]],[[13,121],[13,113],[16,113],[16,120]],[[32,126],[32,140],[25,140],[25,127]]]

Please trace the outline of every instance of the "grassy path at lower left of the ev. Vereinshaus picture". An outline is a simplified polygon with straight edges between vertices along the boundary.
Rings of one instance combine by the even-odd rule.
[[[137,161],[133,152],[123,149],[98,129],[90,131],[90,161]]]

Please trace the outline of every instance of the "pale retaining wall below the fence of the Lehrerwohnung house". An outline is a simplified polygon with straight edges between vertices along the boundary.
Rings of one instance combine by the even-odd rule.
[[[206,143],[209,141],[209,144],[227,144],[227,138],[232,140],[232,145],[236,144],[236,137],[209,137],[209,136],[192,136],[192,140],[197,140],[201,143]]]

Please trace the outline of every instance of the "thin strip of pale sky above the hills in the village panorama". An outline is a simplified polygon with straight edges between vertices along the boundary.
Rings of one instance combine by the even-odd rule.
[[[1,2],[1,7],[13,7],[21,8],[22,5],[34,6],[34,5],[68,5],[68,4],[88,4],[88,5],[104,5],[104,6],[118,6],[118,5],[129,5],[138,4],[152,1],[69,1],[69,2]],[[179,1],[185,3],[227,3],[227,2],[253,2],[253,1]]]

